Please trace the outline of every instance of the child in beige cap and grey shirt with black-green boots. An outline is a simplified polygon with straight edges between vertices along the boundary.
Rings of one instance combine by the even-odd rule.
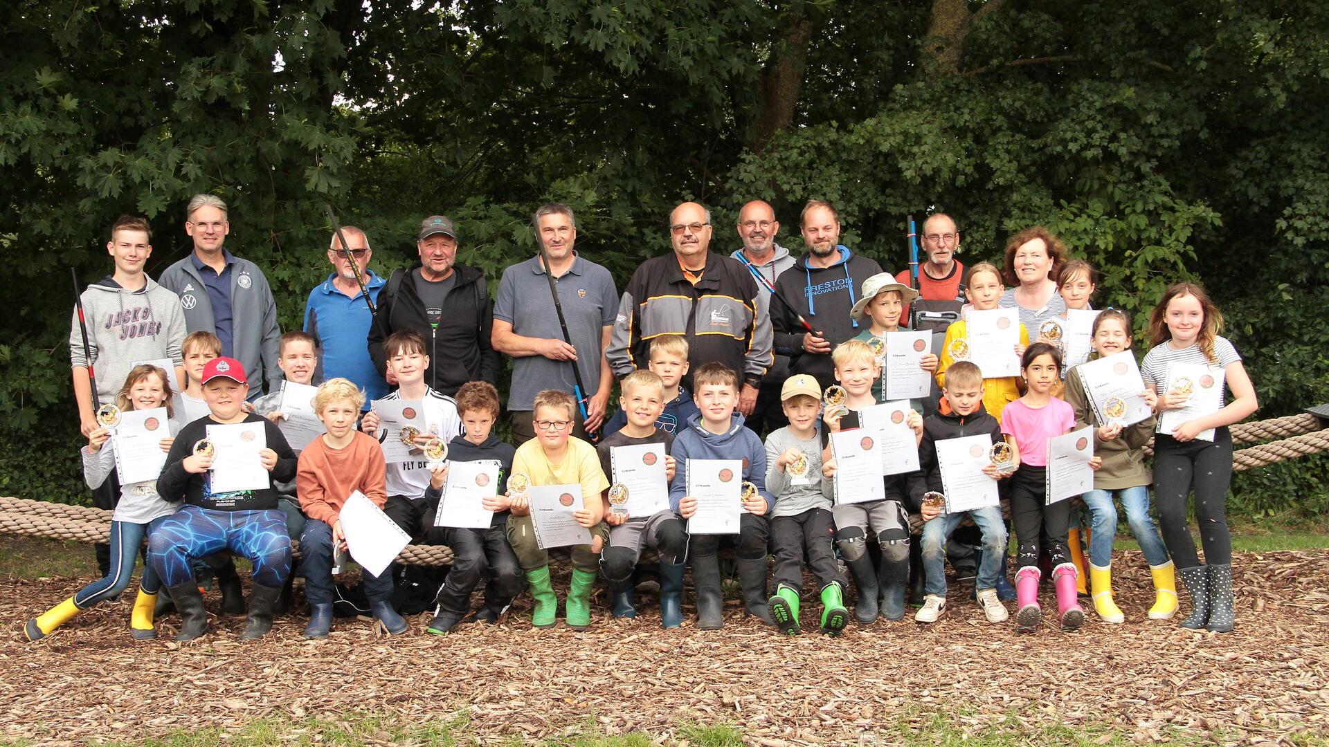
[[[780,633],[797,635],[801,631],[799,594],[803,593],[803,553],[807,550],[808,566],[821,589],[821,631],[839,635],[849,622],[849,610],[844,609],[844,590],[849,582],[835,558],[832,488],[831,481],[821,477],[817,380],[807,374],[789,376],[780,388],[780,404],[789,424],[766,437],[766,486],[775,496],[771,617]],[[791,467],[797,469],[791,471]],[[801,484],[795,484],[795,479]]]

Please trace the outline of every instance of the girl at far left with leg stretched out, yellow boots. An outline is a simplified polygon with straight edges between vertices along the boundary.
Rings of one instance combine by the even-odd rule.
[[[116,395],[116,405],[121,409],[153,409],[165,407],[167,417],[174,415],[171,407],[170,383],[166,372],[155,366],[136,366],[125,379],[125,385]],[[161,440],[163,452],[169,452],[178,431],[174,420],[167,421],[169,435]],[[116,445],[106,445],[110,431],[97,428],[88,433],[88,448],[82,449],[84,480],[96,489],[116,469]],[[68,622],[80,611],[113,599],[129,587],[134,573],[134,556],[144,544],[144,537],[155,529],[165,517],[175,513],[177,504],[170,504],[157,494],[157,482],[133,482],[120,489],[120,502],[110,517],[110,573],[93,581],[64,602],[51,607],[40,617],[29,619],[24,626],[28,641],[45,638],[54,629]],[[140,581],[138,598],[130,614],[130,629],[136,639],[157,638],[153,627],[153,607],[161,581],[150,565],[144,564],[144,577]]]

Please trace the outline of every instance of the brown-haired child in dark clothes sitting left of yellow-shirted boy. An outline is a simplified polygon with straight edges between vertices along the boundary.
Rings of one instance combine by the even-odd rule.
[[[512,475],[516,449],[493,435],[494,423],[498,420],[498,391],[489,381],[466,381],[457,389],[456,399],[464,433],[448,444],[448,460],[497,461],[500,464],[497,484],[501,488]],[[447,465],[432,472],[429,489],[425,492],[431,502],[436,505],[440,502],[447,479]],[[484,506],[494,512],[489,529],[448,530],[448,545],[452,546],[456,560],[435,598],[437,606],[433,621],[425,629],[429,633],[441,635],[462,619],[482,619],[493,625],[498,622],[513,597],[521,593],[521,565],[512,552],[512,545],[508,544],[508,498],[496,494],[485,498]],[[485,603],[472,618],[466,618],[466,613],[470,611],[470,591],[481,578],[488,578]]]

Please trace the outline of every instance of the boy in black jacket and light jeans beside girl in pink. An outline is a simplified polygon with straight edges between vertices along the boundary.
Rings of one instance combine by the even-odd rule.
[[[916,502],[922,502],[922,494],[929,490],[942,492],[941,468],[937,463],[937,441],[962,436],[987,433],[993,443],[1003,440],[1001,423],[983,409],[983,375],[968,360],[954,363],[946,371],[945,400],[937,415],[924,421],[922,441],[918,444],[918,472],[909,476],[909,494]],[[987,465],[983,473],[1001,480],[1009,473],[997,472]],[[936,622],[946,609],[946,538],[960,525],[968,513],[982,532],[982,556],[978,576],[974,581],[978,591],[978,606],[983,609],[987,622],[1006,619],[1006,607],[997,598],[997,577],[1001,573],[1002,554],[1006,552],[1006,526],[1002,524],[1001,506],[986,506],[938,517],[940,508],[922,506],[926,524],[922,529],[922,564],[925,593],[922,607],[914,615],[916,622]]]

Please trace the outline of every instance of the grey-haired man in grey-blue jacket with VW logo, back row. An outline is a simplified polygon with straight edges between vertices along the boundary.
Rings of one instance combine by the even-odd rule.
[[[162,272],[161,284],[179,296],[189,332],[213,332],[222,340],[222,356],[245,364],[254,381],[250,399],[282,385],[278,368],[276,302],[256,265],[233,255],[222,245],[231,233],[226,203],[211,194],[195,194],[185,211],[185,233],[194,251]]]

